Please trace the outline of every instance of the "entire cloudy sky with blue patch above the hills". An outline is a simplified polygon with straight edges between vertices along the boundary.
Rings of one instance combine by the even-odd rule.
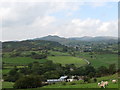
[[[118,2],[1,2],[1,41],[118,36]]]

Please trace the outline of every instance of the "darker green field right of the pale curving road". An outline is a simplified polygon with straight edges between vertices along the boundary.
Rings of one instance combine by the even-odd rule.
[[[81,53],[78,56],[87,59],[91,65],[94,67],[109,66],[115,63],[118,65],[118,55],[117,54],[94,54],[93,58],[89,53]]]

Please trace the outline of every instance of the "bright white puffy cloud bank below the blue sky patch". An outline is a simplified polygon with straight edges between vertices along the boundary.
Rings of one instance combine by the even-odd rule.
[[[62,32],[62,30],[64,30]],[[61,32],[60,32],[61,31]],[[73,19],[59,28],[59,35],[67,37],[81,36],[116,36],[117,21],[103,22],[99,19]]]

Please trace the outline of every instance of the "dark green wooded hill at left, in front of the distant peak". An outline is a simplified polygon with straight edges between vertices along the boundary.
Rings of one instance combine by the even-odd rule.
[[[34,50],[34,49],[52,49],[52,48],[63,48],[58,42],[46,41],[46,40],[24,40],[24,41],[9,41],[3,42],[3,51],[14,51],[14,50]]]

